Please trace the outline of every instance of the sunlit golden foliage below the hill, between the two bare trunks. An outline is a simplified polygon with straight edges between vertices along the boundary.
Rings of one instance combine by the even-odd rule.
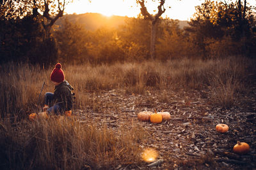
[[[58,41],[60,60],[111,64],[148,59],[148,32],[148,22],[136,18],[118,28],[106,26],[95,31],[86,31],[83,25],[66,19],[54,36]]]

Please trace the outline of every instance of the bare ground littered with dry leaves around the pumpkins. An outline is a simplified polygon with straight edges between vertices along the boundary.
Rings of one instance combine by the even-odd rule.
[[[92,94],[93,107],[75,110],[84,121],[104,120],[108,127],[129,129],[139,124],[149,132],[141,148],[155,148],[159,164],[119,164],[114,169],[256,169],[256,103],[255,93],[243,96],[236,107],[212,104],[205,91],[147,90],[129,94],[109,90]],[[239,106],[238,106],[239,105]],[[140,111],[168,111],[171,119],[161,124],[138,121]],[[229,126],[226,133],[216,132],[216,125]],[[250,152],[237,155],[232,148],[237,141],[250,145]]]

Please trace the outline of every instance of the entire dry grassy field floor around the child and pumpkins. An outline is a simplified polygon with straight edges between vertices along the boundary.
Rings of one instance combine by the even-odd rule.
[[[239,139],[256,132],[255,124],[249,127],[253,125],[249,124],[251,122],[243,124],[243,121],[236,120],[242,117],[240,112],[250,112],[250,116],[255,118],[255,60],[230,57],[109,66],[62,64],[66,80],[75,89],[74,117],[30,122],[29,113],[38,113],[44,106],[45,92],[54,90],[49,80],[53,67],[41,68],[25,63],[9,63],[0,67],[1,169],[147,169],[148,164],[141,160],[141,152],[146,146],[160,148],[159,152],[161,148],[163,150],[159,157],[164,162],[157,165],[157,169],[255,168],[255,163],[244,164],[248,159],[255,161],[256,144],[253,141],[248,141],[252,148],[249,155],[236,157],[236,162],[221,160],[222,163],[216,160],[220,157],[214,159],[211,155],[220,150],[203,153],[204,149],[213,150],[206,141],[205,145],[202,144],[201,155],[186,155],[187,145],[182,150],[182,145],[175,145],[178,139],[172,137],[172,132],[175,136],[180,135],[175,134],[173,127],[181,131],[179,127],[188,122],[186,113],[193,113],[191,121],[195,124],[195,132],[198,132],[188,136],[186,143],[203,138],[205,133],[211,135],[213,131],[209,125],[225,120],[230,120],[233,130],[251,128],[250,132],[244,130],[244,134],[238,132]],[[138,122],[136,114],[145,109],[170,111],[175,118],[156,126]],[[211,116],[211,111],[216,114],[215,119],[203,124],[202,114]],[[227,113],[230,114],[225,115]],[[227,117],[232,117],[236,123],[231,124]],[[204,132],[199,130],[203,125]],[[227,137],[222,135],[218,139],[232,138],[231,141],[236,141],[238,137],[232,137],[233,130]],[[188,129],[182,132],[186,131],[190,133]],[[170,133],[165,138],[167,132]],[[255,141],[255,134],[251,136],[250,139]],[[189,143],[188,146],[195,149],[197,144],[200,142]],[[163,145],[178,147],[178,156],[173,152],[175,148]],[[230,152],[233,144],[220,145],[222,149],[229,147],[227,152]],[[193,158],[195,155],[196,159]]]

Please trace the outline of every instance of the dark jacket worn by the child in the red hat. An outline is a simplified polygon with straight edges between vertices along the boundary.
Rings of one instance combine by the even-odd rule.
[[[66,80],[55,86],[53,102],[60,106],[61,112],[72,109],[72,90],[73,87]]]

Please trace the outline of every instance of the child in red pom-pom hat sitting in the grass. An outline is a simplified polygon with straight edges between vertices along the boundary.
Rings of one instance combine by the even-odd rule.
[[[61,69],[61,64],[57,63],[53,69],[50,79],[55,85],[54,93],[45,93],[44,111],[48,114],[71,116],[72,109],[72,90],[73,87],[65,80],[65,75]]]

